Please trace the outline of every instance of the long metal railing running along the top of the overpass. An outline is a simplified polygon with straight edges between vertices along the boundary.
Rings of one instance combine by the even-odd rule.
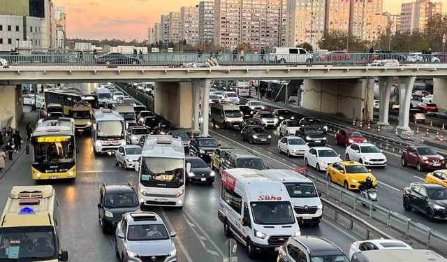
[[[447,53],[327,53],[327,54],[233,54],[217,52],[180,52],[148,54],[44,53],[0,54],[9,65],[33,66],[203,66],[212,57],[221,65],[329,64],[334,66],[398,66],[400,64],[447,64]],[[393,61],[391,61],[393,60]],[[4,61],[4,60],[3,60]]]

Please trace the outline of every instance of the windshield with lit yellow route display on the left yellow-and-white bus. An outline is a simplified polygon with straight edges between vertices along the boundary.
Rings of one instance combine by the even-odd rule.
[[[71,136],[38,136],[34,140],[34,162],[73,162],[75,145]]]

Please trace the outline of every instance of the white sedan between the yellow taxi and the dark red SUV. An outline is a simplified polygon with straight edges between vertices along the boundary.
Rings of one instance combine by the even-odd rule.
[[[356,143],[346,147],[346,161],[358,161],[365,166],[386,166],[386,156],[373,144]]]

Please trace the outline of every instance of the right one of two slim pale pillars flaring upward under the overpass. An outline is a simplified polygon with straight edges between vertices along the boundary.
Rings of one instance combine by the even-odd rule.
[[[411,93],[416,76],[399,78],[399,125],[401,131],[409,130]]]

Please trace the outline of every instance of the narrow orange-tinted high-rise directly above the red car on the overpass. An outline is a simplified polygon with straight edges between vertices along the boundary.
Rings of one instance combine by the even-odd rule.
[[[348,33],[351,0],[327,0],[325,11],[325,30]]]

